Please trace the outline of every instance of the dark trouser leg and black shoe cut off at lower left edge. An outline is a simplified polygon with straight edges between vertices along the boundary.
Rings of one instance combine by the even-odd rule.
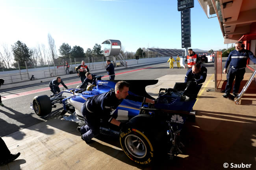
[[[20,156],[20,152],[17,154],[11,154],[9,149],[6,146],[4,140],[0,137],[0,166],[6,165]]]

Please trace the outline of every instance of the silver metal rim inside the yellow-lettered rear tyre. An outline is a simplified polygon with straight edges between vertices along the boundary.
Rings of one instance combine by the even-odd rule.
[[[143,158],[147,155],[146,145],[137,135],[127,135],[124,139],[124,143],[128,152],[134,157]]]

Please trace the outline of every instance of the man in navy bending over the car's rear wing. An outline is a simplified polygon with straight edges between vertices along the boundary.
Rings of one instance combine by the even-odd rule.
[[[189,69],[185,76],[187,86],[202,84],[207,77],[207,68],[196,63]]]

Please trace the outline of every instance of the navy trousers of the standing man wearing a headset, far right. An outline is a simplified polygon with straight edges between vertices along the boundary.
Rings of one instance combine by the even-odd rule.
[[[245,68],[243,69],[229,68],[225,93],[227,94],[230,93],[234,79],[235,79],[235,84],[233,88],[233,93],[238,93],[240,88],[240,83],[243,80],[244,75],[245,75]]]

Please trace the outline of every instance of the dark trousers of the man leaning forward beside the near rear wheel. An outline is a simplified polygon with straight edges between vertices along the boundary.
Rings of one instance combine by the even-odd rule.
[[[81,111],[86,123],[85,126],[81,127],[81,133],[83,134],[83,140],[88,141],[100,134],[100,117],[86,109],[86,102],[83,104]]]

